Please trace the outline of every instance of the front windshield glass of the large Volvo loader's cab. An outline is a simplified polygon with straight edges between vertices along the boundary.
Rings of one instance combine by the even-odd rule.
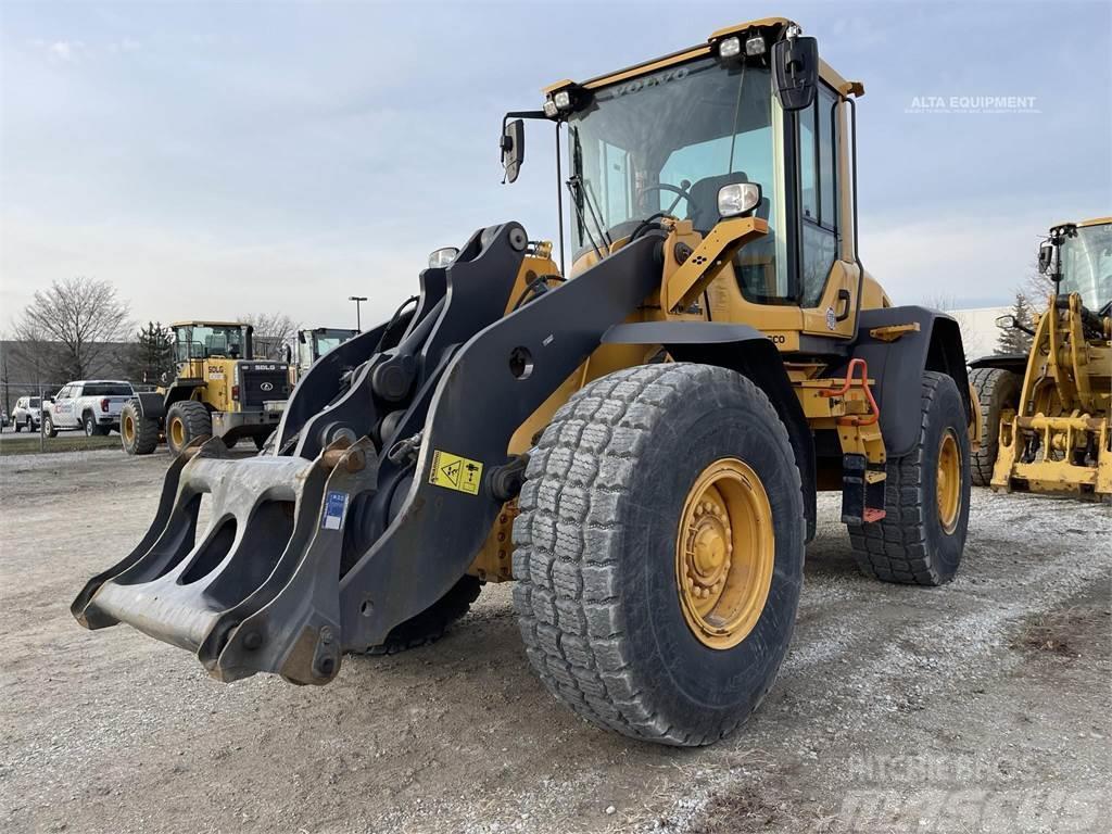
[[[763,268],[775,260],[783,285],[780,113],[767,68],[716,58],[596,90],[568,118],[576,257],[605,251],[661,212],[708,231],[721,219],[723,186],[759,182],[765,199],[756,214],[770,234],[743,251]]]

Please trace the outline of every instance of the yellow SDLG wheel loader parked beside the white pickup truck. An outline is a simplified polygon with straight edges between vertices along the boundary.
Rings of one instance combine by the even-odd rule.
[[[292,387],[289,366],[255,359],[252,328],[238,321],[179,321],[175,378],[123,406],[120,437],[129,455],[149,455],[165,438],[173,454],[201,437],[229,447],[244,437],[262,447]]]

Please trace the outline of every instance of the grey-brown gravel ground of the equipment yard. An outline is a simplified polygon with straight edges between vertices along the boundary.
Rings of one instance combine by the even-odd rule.
[[[7,832],[1096,831],[1112,754],[1112,512],[974,490],[957,579],[883,585],[820,503],[794,644],[711,748],[632,743],[530,673],[508,586],[330,686],[209,679],[68,605],[169,458],[0,455]]]

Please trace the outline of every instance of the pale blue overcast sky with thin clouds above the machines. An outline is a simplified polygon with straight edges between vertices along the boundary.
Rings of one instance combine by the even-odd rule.
[[[1106,0],[2,0],[0,328],[76,275],[113,281],[139,319],[351,326],[350,295],[379,319],[475,228],[555,237],[550,131],[529,125],[502,186],[505,110],[765,14],[865,85],[862,257],[896,302],[1006,302],[1052,221],[1112,214]],[[955,96],[1034,101],[909,112]]]

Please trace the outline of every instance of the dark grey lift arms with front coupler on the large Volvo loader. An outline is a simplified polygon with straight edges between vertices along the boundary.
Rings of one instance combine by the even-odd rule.
[[[182,451],[146,536],[73,602],[78,622],[130,624],[221,681],[324,684],[345,651],[436,603],[520,489],[514,431],[659,282],[649,232],[506,315],[527,248],[504,224],[421,272],[411,309],[309,369],[258,457],[219,439]]]

